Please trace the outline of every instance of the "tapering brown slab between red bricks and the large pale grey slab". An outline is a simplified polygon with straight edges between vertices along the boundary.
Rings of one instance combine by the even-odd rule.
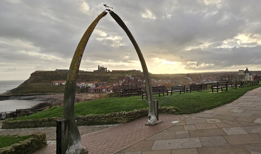
[[[154,141],[141,141],[120,152],[150,151]]]

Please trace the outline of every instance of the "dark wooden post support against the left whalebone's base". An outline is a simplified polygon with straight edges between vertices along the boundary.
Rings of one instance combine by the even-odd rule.
[[[68,146],[68,121],[56,121],[56,153],[65,154]]]

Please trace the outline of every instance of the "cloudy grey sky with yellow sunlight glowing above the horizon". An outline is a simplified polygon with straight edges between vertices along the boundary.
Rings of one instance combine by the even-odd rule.
[[[131,31],[150,73],[261,70],[260,0],[1,0],[0,80],[69,69],[103,4]],[[134,46],[109,13],[90,36],[80,70],[98,65],[142,71]]]

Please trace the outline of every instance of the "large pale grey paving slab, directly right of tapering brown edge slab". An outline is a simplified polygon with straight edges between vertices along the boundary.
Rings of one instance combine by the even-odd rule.
[[[166,149],[185,149],[185,148],[197,148],[202,147],[200,139],[184,138],[184,139],[166,139],[156,140],[151,150],[166,150]]]

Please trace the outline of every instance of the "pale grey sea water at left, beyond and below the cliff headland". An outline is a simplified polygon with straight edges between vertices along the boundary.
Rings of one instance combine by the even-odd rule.
[[[18,87],[25,80],[0,80],[0,94]],[[20,100],[21,97],[14,97],[8,100],[0,100],[0,112],[16,111],[16,109],[31,108],[41,101]]]

